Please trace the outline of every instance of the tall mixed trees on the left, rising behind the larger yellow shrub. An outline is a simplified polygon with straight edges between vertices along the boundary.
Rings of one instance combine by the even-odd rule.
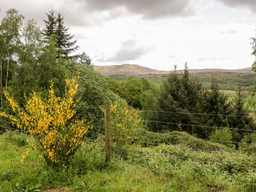
[[[61,12],[50,10],[46,13],[44,27],[25,17],[15,9],[6,11],[0,20],[0,95],[1,108],[10,108],[3,96],[8,91],[15,101],[23,106],[33,91],[42,98],[48,94],[52,82],[59,97],[65,93],[65,79],[79,73],[78,114],[101,114],[107,100],[121,100],[108,89],[106,79],[94,71],[90,56],[76,54],[79,46],[74,35],[65,26]],[[88,116],[87,122],[102,123],[102,119]],[[1,129],[8,127],[2,124]],[[101,130],[95,129],[96,132]]]

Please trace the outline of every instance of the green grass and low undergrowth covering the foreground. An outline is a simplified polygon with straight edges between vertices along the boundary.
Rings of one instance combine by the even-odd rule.
[[[221,154],[178,147],[189,146],[192,136],[187,141],[175,140],[171,145],[159,143],[159,146],[142,147],[132,144],[127,160],[113,154],[112,162],[107,164],[104,153],[101,153],[104,151],[104,140],[99,137],[78,151],[67,168],[58,169],[47,167],[44,159],[38,157],[37,150],[31,150],[26,155],[25,162],[20,163],[22,154],[29,148],[26,143],[20,142],[24,137],[26,136],[19,133],[0,136],[1,192],[252,191],[252,171],[223,168],[202,161],[254,167],[254,158],[248,159],[246,155],[239,156],[240,158],[232,155],[224,157]],[[204,143],[197,143],[197,148],[212,145],[217,150],[221,147],[222,151],[232,151],[221,144],[202,142]],[[136,153],[135,150],[142,152]],[[192,159],[199,159],[201,162]]]

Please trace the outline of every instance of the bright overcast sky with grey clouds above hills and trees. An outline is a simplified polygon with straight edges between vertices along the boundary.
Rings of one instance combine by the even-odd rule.
[[[51,9],[94,65],[138,64],[158,70],[251,67],[255,0],[8,0],[44,28]]]

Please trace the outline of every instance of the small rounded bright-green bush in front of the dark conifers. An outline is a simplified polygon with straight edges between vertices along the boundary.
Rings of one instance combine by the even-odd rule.
[[[233,135],[233,131],[228,128],[216,128],[210,133],[209,139],[213,140],[214,142],[221,143],[227,147],[234,148],[235,145],[233,143]]]

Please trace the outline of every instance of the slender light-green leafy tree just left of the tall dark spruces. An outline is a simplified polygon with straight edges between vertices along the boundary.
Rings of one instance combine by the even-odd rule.
[[[10,91],[19,103],[24,103],[23,94],[38,91],[39,55],[42,49],[41,32],[35,20],[28,20],[23,26],[18,55],[16,76],[12,80]]]

